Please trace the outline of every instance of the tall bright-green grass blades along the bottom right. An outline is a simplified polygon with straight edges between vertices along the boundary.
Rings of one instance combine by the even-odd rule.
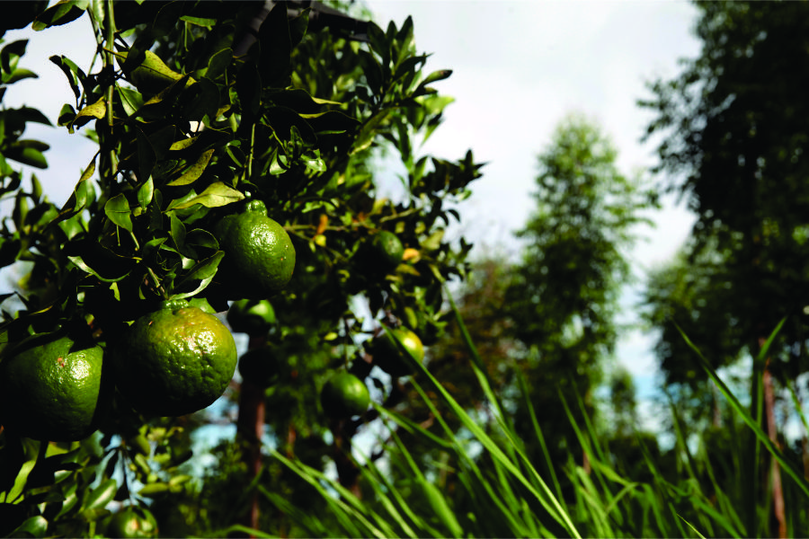
[[[521,397],[532,420],[532,436],[536,437],[546,460],[542,469],[547,471],[547,476],[539,473],[536,463],[526,455],[525,444],[493,392],[483,361],[458,309],[454,304],[452,308],[472,358],[470,368],[488,401],[493,420],[480,424],[427,368],[414,362],[421,376],[413,379],[413,387],[440,425],[440,435],[423,429],[396,411],[378,406],[389,440],[386,448],[389,469],[380,469],[368,458],[360,460],[362,484],[366,486],[363,499],[326,474],[272,452],[274,458],[311,485],[313,493],[323,497],[331,511],[328,518],[314,515],[306,508],[291,507],[287,500],[259,487],[266,499],[294,520],[298,527],[292,535],[378,538],[767,536],[770,535],[771,499],[764,492],[770,459],[778,462],[790,480],[788,485],[785,481],[789,533],[791,536],[809,533],[806,510],[809,483],[761,429],[760,410],[752,413],[746,410],[693,345],[702,367],[725,396],[733,414],[748,429],[744,436],[741,436],[743,432],[738,433],[739,453],[725,459],[722,469],[717,471],[707,453],[707,444],[703,443],[705,440],[700,440],[696,451],[689,446],[677,408],[671,405],[677,475],[671,477],[671,472],[663,469],[659,458],[647,445],[647,439],[638,435],[636,443],[648,472],[645,475],[651,479],[632,480],[618,471],[625,469],[623,464],[627,463],[614,461],[615,454],[600,439],[584,413],[582,399],[567,402],[560,393],[562,410],[571,421],[589,462],[589,470],[586,470],[571,455],[565,474],[573,490],[565,490],[565,498],[562,482],[555,472],[559,466],[550,461],[526,384],[518,378]],[[761,350],[759,360],[766,357],[778,329]],[[687,336],[683,338],[690,344]],[[418,380],[449,407],[460,420],[466,436],[449,428],[428,397],[425,385]],[[751,392],[758,391],[760,384],[754,382]],[[573,419],[575,409],[585,418],[581,424]],[[733,432],[734,427],[729,429]],[[444,467],[420,467],[399,432],[416,437],[425,446],[446,455]],[[470,438],[479,451],[473,451]],[[749,439],[749,443],[743,445],[742,439]],[[436,476],[442,475],[454,479],[452,489],[441,480],[437,484]]]

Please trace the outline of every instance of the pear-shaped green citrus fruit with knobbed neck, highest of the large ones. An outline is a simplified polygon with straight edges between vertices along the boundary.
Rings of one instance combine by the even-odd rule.
[[[214,227],[225,258],[218,280],[237,298],[264,299],[287,286],[295,270],[295,248],[284,227],[267,216],[261,200]]]

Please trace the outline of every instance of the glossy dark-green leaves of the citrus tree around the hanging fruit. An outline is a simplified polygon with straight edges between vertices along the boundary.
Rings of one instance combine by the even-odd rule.
[[[219,271],[226,254],[211,231],[244,200],[261,200],[298,257],[289,287],[271,297],[277,323],[258,342],[281,358],[278,383],[260,399],[271,439],[323,467],[325,455],[351,460],[351,436],[375,416],[329,423],[317,405],[320,386],[334,369],[369,376],[362,343],[383,323],[440,333],[442,283],[465,273],[471,247],[444,240],[458,219],[447,203],[465,199],[480,172],[471,152],[451,162],[414,149],[451,99],[431,87],[449,70],[422,72],[427,55],[416,50],[410,19],[385,30],[368,22],[356,40],[328,24],[310,30],[312,11],[279,3],[252,39],[262,5],[76,0],[31,13],[26,22],[37,31],[89,18],[98,49],[91,73],[64,55],[50,57],[72,90],[55,121],[29,108],[2,112],[2,194],[14,208],[0,230],[0,262],[32,264],[23,308],[4,311],[2,334],[13,344],[77,319],[104,345],[164,297],[224,312],[236,299],[233,277]],[[4,84],[29,76],[18,65],[25,45],[0,50]],[[35,176],[23,187],[13,166],[47,166],[46,145],[22,138],[27,122],[55,123],[98,143],[62,205]],[[385,179],[372,162],[383,147],[405,165],[402,199],[378,194]],[[387,273],[358,254],[382,230],[405,247]],[[384,399],[391,385],[372,381]],[[242,468],[245,447],[261,441],[222,446],[223,473],[235,466],[242,475],[203,487],[182,473],[200,420],[206,416],[144,418],[119,395],[112,419],[83,442],[3,432],[4,531],[92,535],[102,532],[113,500],[152,503],[166,531],[215,533],[233,524],[249,504],[232,496],[228,507],[200,505],[199,490],[244,492],[252,477]],[[267,470],[279,491],[294,490]]]

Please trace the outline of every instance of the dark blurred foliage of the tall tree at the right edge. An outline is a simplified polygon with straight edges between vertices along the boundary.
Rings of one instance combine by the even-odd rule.
[[[809,138],[800,90],[809,73],[807,6],[698,7],[702,52],[678,77],[651,84],[653,99],[641,103],[656,116],[649,134],[662,136],[659,172],[669,174],[668,188],[698,216],[684,271],[706,285],[688,295],[700,302],[694,316],[702,313],[715,348],[729,347],[715,350],[715,358],[735,356],[742,346],[758,349],[760,337],[790,316],[781,350],[801,350],[787,362],[796,374],[805,370],[809,261],[801,157]],[[652,294],[666,294],[665,287],[653,285]]]

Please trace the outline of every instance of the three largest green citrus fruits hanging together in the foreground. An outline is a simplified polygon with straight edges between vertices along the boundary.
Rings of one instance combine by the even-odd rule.
[[[271,296],[289,283],[295,249],[262,201],[222,217],[213,232],[230,296]],[[96,342],[82,317],[5,347],[0,423],[23,437],[79,440],[102,425],[113,386],[146,416],[185,415],[224,393],[236,361],[233,335],[204,299],[161,301],[114,342]]]

